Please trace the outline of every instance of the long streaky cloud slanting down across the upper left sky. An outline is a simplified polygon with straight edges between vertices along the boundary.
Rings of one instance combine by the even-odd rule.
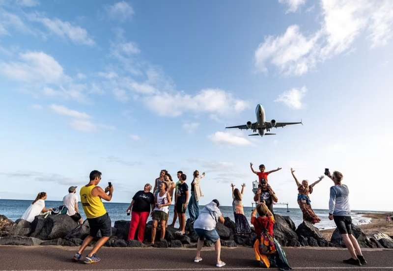
[[[73,26],[69,22],[63,22],[57,18],[49,19],[46,17],[41,17],[38,14],[30,14],[28,18],[33,22],[39,22],[44,25],[52,33],[56,34],[62,38],[69,38],[76,44],[84,45],[94,45],[94,40],[87,33],[87,30],[79,27]]]

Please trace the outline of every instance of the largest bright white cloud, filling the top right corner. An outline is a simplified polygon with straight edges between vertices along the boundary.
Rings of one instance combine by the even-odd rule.
[[[393,1],[391,0],[321,0],[321,28],[305,35],[293,25],[279,36],[267,36],[255,51],[257,70],[268,66],[283,75],[300,76],[317,63],[353,50],[361,33],[371,41],[371,48],[386,45],[393,37]]]

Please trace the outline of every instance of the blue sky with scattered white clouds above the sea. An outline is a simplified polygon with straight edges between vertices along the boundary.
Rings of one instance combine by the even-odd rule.
[[[250,205],[253,162],[283,167],[269,182],[292,207],[290,167],[329,167],[353,209],[389,210],[393,4],[377,2],[0,0],[0,197],[60,199],[98,169],[128,202],[162,168],[198,169],[201,204],[245,182]],[[304,126],[225,131],[258,103]]]

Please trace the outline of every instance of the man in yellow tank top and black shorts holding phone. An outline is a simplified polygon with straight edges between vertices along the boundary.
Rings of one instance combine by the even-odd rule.
[[[81,202],[84,214],[87,217],[90,226],[90,234],[84,239],[79,251],[75,253],[73,260],[82,259],[84,249],[97,237],[98,231],[101,232],[101,238],[95,243],[93,249],[85,257],[85,264],[98,263],[101,261],[97,257],[97,251],[109,240],[112,235],[112,223],[107,210],[105,210],[102,199],[111,201],[113,186],[107,187],[105,191],[97,186],[101,181],[101,172],[93,170],[90,172],[90,182],[81,188]]]

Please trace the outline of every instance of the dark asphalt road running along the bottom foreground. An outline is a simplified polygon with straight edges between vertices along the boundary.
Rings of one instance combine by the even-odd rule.
[[[393,250],[389,249],[365,250],[364,254],[368,264],[362,267],[342,263],[343,259],[349,258],[348,252],[343,249],[285,247],[284,250],[293,270],[393,271]],[[102,261],[92,265],[72,262],[71,258],[76,251],[77,247],[2,245],[0,246],[0,271],[219,270],[215,266],[215,252],[212,248],[204,248],[201,254],[203,261],[200,263],[193,262],[196,249],[103,247],[98,254]],[[254,260],[252,248],[223,248],[221,259],[226,263],[226,266],[220,270],[251,271],[260,269]]]

